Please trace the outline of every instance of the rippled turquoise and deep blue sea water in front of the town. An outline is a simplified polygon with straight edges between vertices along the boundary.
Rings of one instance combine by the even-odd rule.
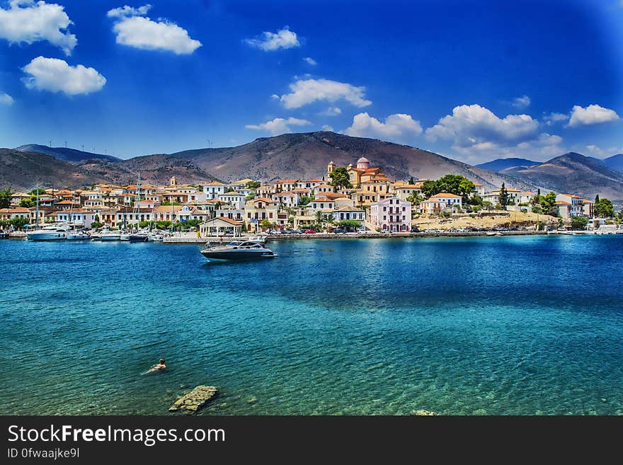
[[[623,236],[270,247],[0,241],[0,414],[623,413]]]

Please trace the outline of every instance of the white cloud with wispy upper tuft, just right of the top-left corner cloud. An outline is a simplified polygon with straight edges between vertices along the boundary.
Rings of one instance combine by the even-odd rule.
[[[201,42],[191,39],[188,30],[177,24],[162,18],[152,21],[142,16],[149,8],[150,5],[139,8],[126,5],[108,11],[108,17],[116,19],[113,31],[117,34],[118,44],[142,50],[168,50],[178,55],[191,54],[201,47]]]

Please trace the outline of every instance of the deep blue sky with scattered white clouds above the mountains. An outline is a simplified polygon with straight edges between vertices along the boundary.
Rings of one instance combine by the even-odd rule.
[[[623,152],[623,0],[150,2],[0,0],[0,146]]]

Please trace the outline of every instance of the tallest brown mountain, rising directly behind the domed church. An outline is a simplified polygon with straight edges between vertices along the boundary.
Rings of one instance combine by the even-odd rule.
[[[371,166],[380,166],[390,178],[439,178],[447,173],[461,174],[487,186],[530,185],[499,173],[475,168],[430,151],[392,144],[377,139],[349,137],[334,132],[308,132],[262,137],[239,147],[181,151],[173,156],[194,161],[217,178],[237,180],[256,178],[264,181],[319,178],[326,165],[357,163],[361,156]]]

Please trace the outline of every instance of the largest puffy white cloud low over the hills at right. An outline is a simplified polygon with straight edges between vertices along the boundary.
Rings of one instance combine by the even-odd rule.
[[[426,130],[428,139],[452,139],[457,147],[476,147],[485,142],[516,144],[534,139],[539,122],[529,115],[496,116],[480,105],[460,105]]]

